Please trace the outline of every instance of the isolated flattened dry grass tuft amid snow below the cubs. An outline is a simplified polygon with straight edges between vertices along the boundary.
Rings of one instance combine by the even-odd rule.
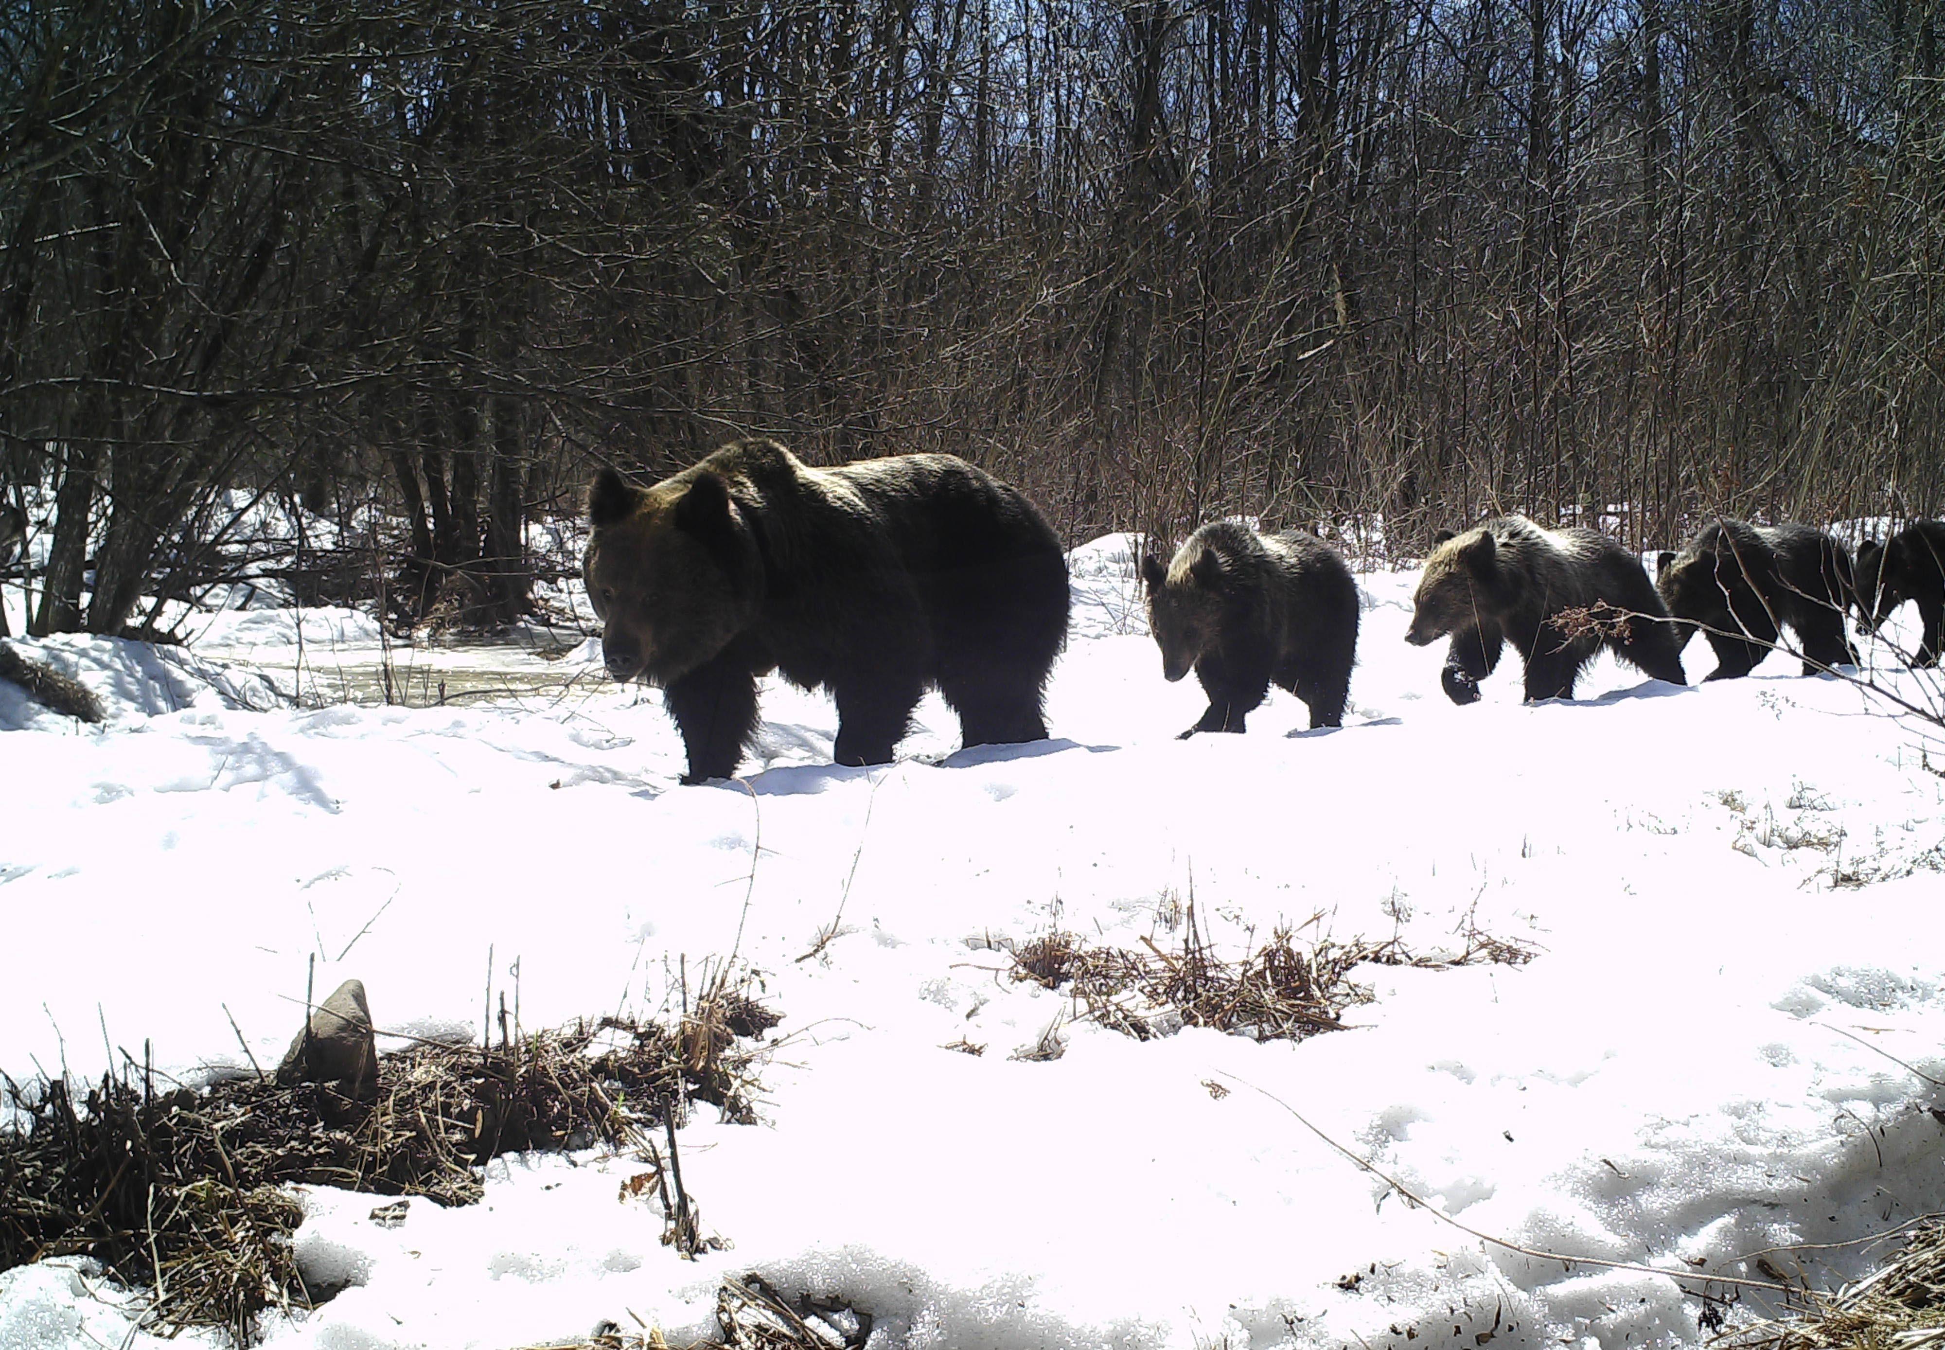
[[[1319,928],[1323,914],[1303,928]],[[1013,949],[1013,978],[1046,988],[1066,986],[1081,1015],[1138,1041],[1181,1027],[1210,1027],[1253,1041],[1301,1041],[1340,1031],[1344,1012],[1371,1002],[1371,990],[1352,978],[1360,965],[1523,965],[1535,949],[1482,934],[1467,918],[1457,951],[1414,955],[1397,938],[1348,943],[1321,936],[1299,945],[1295,932],[1278,928],[1270,941],[1237,959],[1216,953],[1196,924],[1194,903],[1183,945],[1163,951],[1142,940],[1142,951],[1087,947],[1074,934],[1054,932]]]

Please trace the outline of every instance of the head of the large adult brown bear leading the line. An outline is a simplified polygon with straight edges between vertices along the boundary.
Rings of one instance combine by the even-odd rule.
[[[582,580],[613,679],[665,689],[749,626],[762,564],[745,512],[718,473],[690,471],[646,490],[613,469],[595,477]]]

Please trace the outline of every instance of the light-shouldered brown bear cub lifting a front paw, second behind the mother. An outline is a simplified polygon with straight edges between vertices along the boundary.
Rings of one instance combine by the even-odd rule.
[[[1620,611],[1603,613],[1597,607]],[[1556,622],[1593,609],[1595,621]],[[1667,611],[1640,558],[1593,529],[1540,529],[1502,515],[1463,535],[1439,535],[1418,580],[1412,646],[1451,634],[1439,683],[1459,704],[1478,698],[1478,681],[1500,663],[1511,638],[1527,663],[1527,698],[1572,698],[1581,667],[1605,644],[1653,679],[1686,685]]]

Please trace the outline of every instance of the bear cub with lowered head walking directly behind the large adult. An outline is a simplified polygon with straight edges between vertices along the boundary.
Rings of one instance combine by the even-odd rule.
[[[1237,521],[1204,525],[1167,568],[1142,558],[1148,624],[1161,673],[1194,667],[1210,696],[1196,731],[1241,731],[1270,685],[1301,698],[1313,728],[1344,724],[1358,656],[1358,586],[1315,535],[1258,535]]]

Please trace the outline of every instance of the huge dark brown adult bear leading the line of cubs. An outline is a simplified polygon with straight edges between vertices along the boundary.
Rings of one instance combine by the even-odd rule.
[[[663,689],[683,782],[735,772],[772,669],[836,698],[840,764],[889,763],[928,687],[965,745],[1046,737],[1066,556],[1027,498],[963,459],[811,469],[743,440],[652,488],[603,469],[587,517],[607,671]]]

